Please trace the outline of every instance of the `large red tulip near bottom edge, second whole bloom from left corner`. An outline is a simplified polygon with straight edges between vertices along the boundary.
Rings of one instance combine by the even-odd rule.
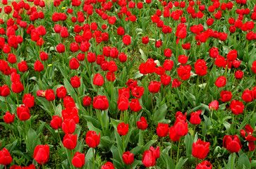
[[[49,160],[49,146],[46,145],[38,145],[35,147],[33,158],[40,165],[47,163]]]

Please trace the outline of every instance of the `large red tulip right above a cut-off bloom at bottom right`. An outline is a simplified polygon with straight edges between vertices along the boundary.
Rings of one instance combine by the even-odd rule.
[[[204,159],[209,153],[209,142],[203,142],[201,139],[197,139],[197,142],[193,143],[192,156],[199,159]]]

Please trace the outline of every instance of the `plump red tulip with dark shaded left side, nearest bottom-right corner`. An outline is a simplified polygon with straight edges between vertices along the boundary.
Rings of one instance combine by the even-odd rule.
[[[223,139],[223,147],[228,151],[231,151],[231,153],[234,153],[240,151],[242,144],[236,134],[234,136],[225,135]]]

